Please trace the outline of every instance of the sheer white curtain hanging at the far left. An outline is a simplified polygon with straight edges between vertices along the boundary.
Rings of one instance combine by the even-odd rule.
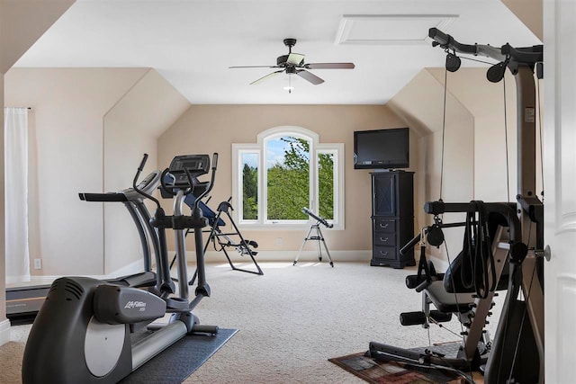
[[[4,108],[6,282],[30,281],[28,109]]]

